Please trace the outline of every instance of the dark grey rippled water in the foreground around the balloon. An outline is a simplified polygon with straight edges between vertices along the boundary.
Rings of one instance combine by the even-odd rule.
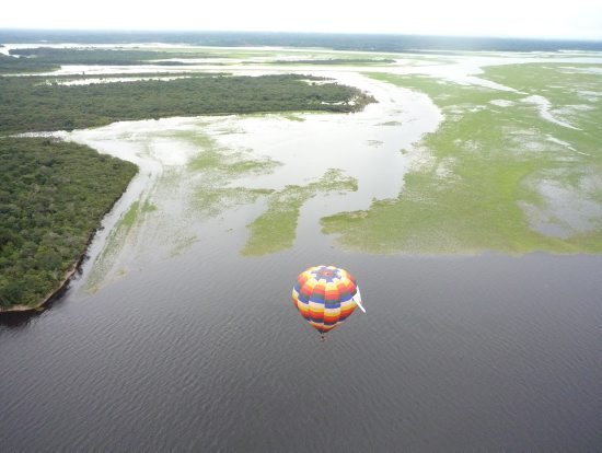
[[[2,317],[0,450],[602,445],[602,257],[210,248]],[[368,310],[325,342],[289,295],[320,263]]]

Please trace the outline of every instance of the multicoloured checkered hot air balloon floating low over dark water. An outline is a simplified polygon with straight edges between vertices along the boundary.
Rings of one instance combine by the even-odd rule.
[[[314,266],[299,274],[292,302],[313,328],[324,335],[341,324],[356,306],[366,313],[356,279],[345,269]]]

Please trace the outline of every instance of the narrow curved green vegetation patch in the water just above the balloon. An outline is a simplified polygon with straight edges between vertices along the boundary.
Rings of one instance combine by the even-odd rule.
[[[243,255],[266,255],[292,247],[299,212],[303,204],[319,194],[357,190],[355,178],[339,170],[328,170],[322,178],[306,186],[291,185],[271,194],[267,211],[248,224],[250,237]]]

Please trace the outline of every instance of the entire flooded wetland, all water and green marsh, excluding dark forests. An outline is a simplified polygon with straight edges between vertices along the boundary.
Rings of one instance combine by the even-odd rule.
[[[144,50],[176,57],[43,76],[374,102],[53,132],[140,170],[69,289],[0,314],[8,451],[600,446],[602,54]],[[320,264],[368,312],[324,342],[290,300]]]

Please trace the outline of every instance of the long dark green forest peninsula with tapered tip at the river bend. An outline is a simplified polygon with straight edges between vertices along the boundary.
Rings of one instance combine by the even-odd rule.
[[[200,76],[89,85],[48,78],[0,78],[0,132],[71,130],[118,120],[259,112],[356,112],[360,90],[308,76]]]

